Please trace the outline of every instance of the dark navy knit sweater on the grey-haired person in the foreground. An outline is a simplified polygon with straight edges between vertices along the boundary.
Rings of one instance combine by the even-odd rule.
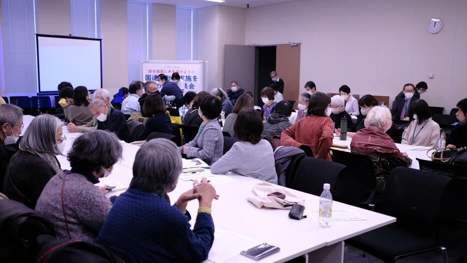
[[[125,262],[201,262],[214,241],[210,214],[188,217],[163,197],[129,188],[115,200],[94,242]]]

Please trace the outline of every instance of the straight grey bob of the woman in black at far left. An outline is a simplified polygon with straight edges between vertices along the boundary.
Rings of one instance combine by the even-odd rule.
[[[52,115],[41,114],[34,117],[19,142],[19,148],[37,152],[59,154],[56,133],[61,121]]]

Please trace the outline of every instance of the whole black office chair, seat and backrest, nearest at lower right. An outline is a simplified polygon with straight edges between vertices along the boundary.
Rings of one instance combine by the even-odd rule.
[[[436,249],[441,249],[443,262],[447,262],[446,248],[440,245],[437,233],[439,205],[450,180],[436,173],[394,168],[376,210],[397,221],[345,242],[385,262]]]

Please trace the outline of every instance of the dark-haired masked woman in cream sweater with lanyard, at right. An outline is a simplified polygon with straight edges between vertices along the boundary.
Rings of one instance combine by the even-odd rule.
[[[428,103],[418,99],[410,104],[408,114],[413,120],[402,132],[402,144],[437,147],[440,137],[439,124],[431,119]]]

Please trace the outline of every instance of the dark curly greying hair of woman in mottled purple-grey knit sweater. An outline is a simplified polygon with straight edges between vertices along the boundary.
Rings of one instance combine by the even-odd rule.
[[[118,137],[105,130],[85,132],[73,141],[67,158],[71,168],[80,172],[98,171],[110,167],[121,158]]]

